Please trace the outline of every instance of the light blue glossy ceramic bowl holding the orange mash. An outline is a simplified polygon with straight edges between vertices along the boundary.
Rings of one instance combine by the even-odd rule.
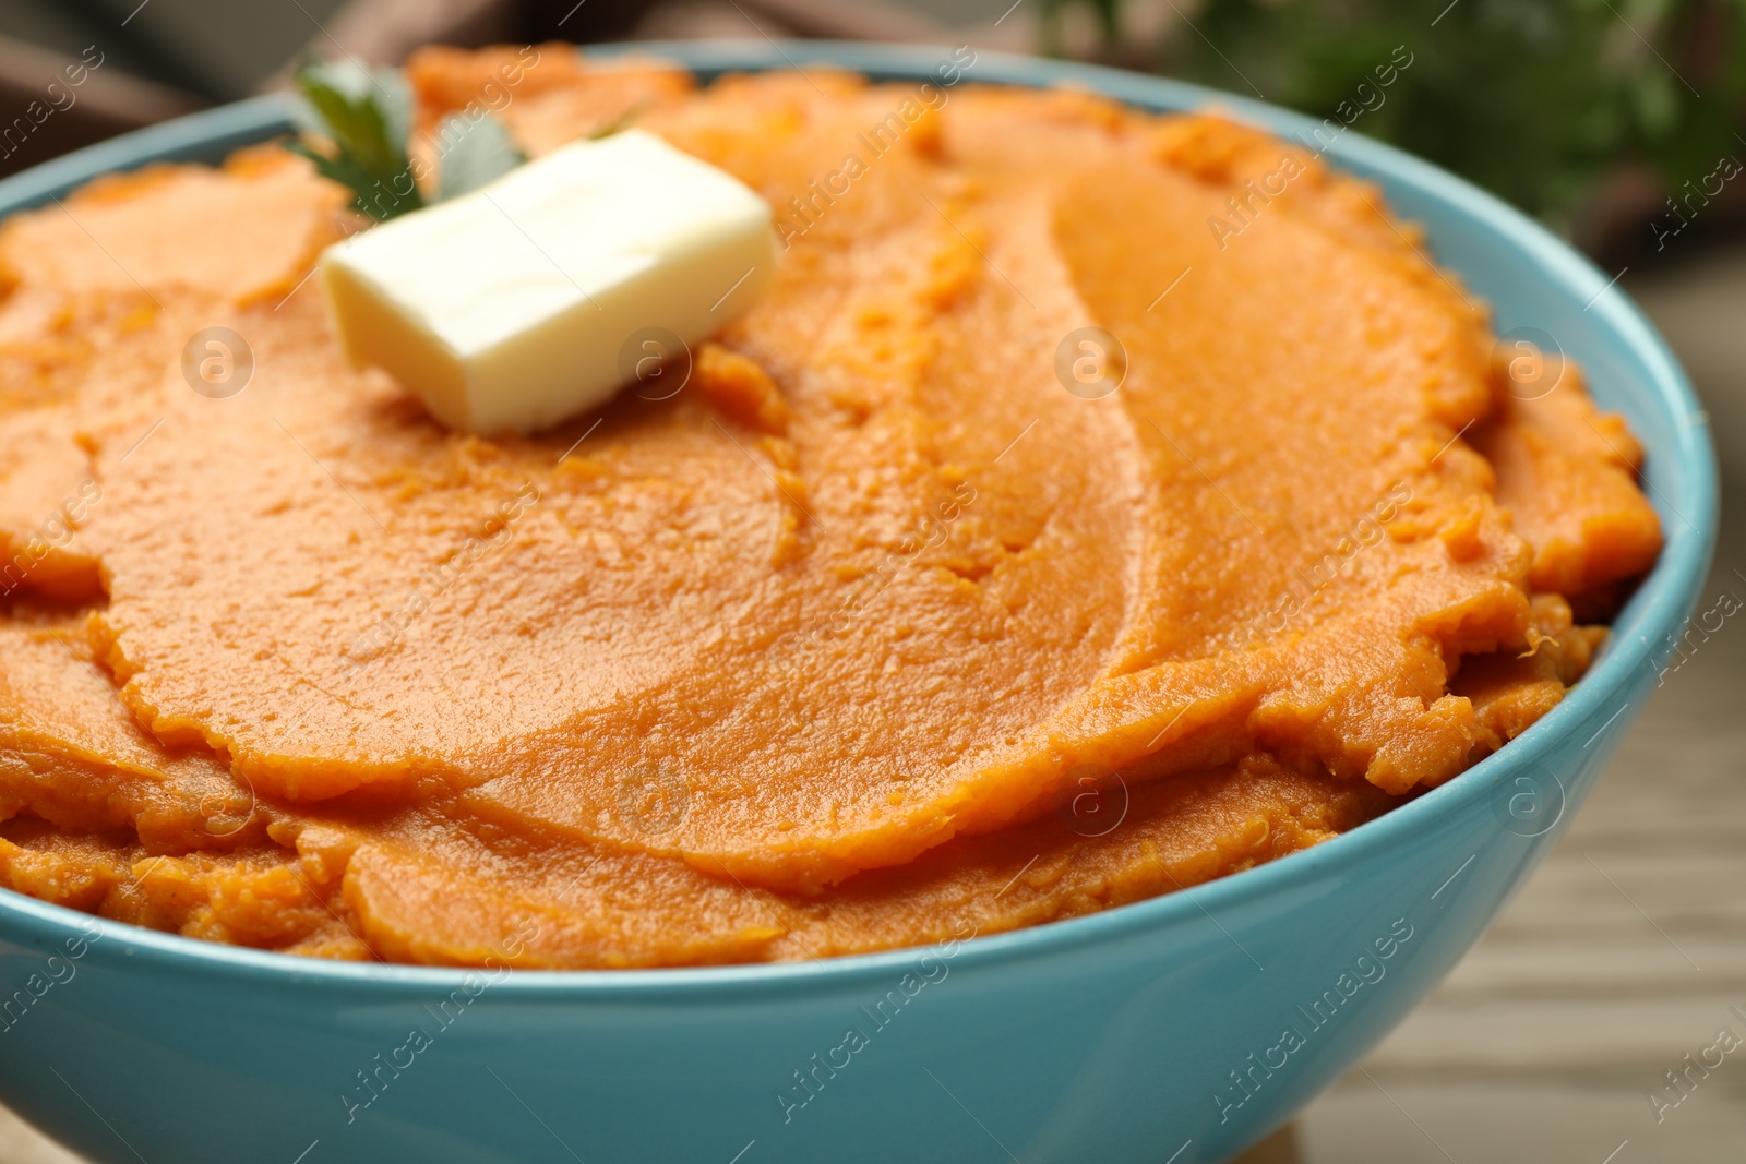
[[[946,58],[800,42],[639,49],[705,75],[829,61],[918,79]],[[969,77],[1074,82],[1152,110],[1217,99],[1296,138],[1316,127],[1053,61],[983,52]],[[0,183],[0,213],[285,129],[278,99],[145,129]],[[1425,223],[1500,330],[1540,328],[1577,356],[1648,448],[1660,564],[1589,677],[1500,754],[1332,843],[1186,894],[810,965],[485,983],[206,946],[0,894],[12,1000],[0,1096],[117,1164],[1191,1164],[1287,1120],[1442,979],[1557,838],[1655,684],[1716,529],[1702,412],[1606,274],[1406,154],[1355,133],[1329,154]],[[845,1040],[850,1028],[864,1045]]]

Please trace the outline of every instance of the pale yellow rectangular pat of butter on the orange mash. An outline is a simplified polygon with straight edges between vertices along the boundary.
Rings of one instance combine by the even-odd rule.
[[[335,243],[321,286],[354,366],[449,428],[529,433],[609,400],[650,328],[695,344],[744,314],[775,250],[768,202],[627,129]]]

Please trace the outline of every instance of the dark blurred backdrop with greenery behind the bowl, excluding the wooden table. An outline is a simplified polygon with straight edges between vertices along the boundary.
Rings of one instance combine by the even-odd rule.
[[[0,0],[0,108],[38,98],[59,63],[103,59],[28,148],[0,136],[0,175],[274,87],[304,52],[396,65],[431,40],[662,37],[967,42],[1161,72],[1318,117],[1341,117],[1402,45],[1413,65],[1362,131],[1589,253],[1653,264],[1674,237],[1692,250],[1746,222],[1746,183],[1725,166],[1746,155],[1741,0]]]

